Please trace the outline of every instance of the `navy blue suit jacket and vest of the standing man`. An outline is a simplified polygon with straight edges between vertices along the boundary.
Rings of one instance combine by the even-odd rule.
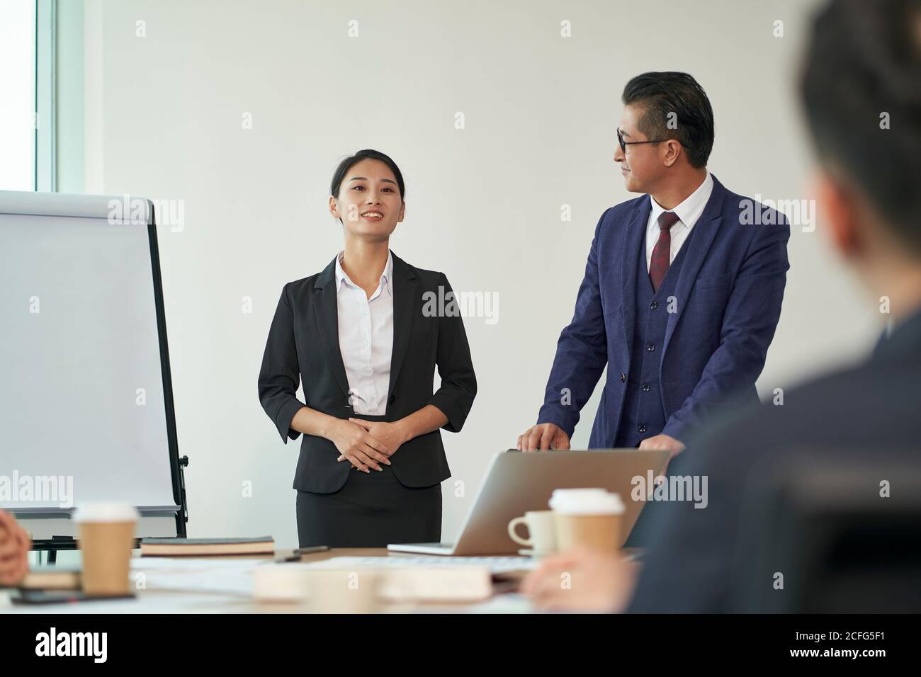
[[[686,440],[730,400],[757,401],[787,281],[787,218],[713,177],[703,214],[659,290],[649,282],[650,196],[606,210],[560,334],[538,423],[572,437],[605,366],[590,449]]]

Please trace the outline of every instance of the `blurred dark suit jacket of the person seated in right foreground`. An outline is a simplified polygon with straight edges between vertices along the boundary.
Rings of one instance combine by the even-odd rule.
[[[772,389],[773,390],[773,389]],[[921,461],[921,310],[880,340],[866,361],[706,427],[669,473],[707,476],[707,506],[659,510],[631,613],[732,609],[731,562],[752,473],[783,467],[804,448],[842,456],[908,454]]]

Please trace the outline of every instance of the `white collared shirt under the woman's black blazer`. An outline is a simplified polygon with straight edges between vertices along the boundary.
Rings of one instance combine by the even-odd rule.
[[[336,308],[349,402],[356,414],[383,415],[393,352],[393,256],[388,251],[378,288],[367,298],[365,290],[345,274],[343,253],[336,257]]]

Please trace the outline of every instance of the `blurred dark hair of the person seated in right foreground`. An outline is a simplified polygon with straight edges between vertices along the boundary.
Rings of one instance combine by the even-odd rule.
[[[921,260],[921,0],[832,0],[800,88],[823,168]]]

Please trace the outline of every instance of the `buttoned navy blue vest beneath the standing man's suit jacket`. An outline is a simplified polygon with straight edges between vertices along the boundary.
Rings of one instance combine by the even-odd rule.
[[[636,266],[636,321],[624,411],[614,436],[615,448],[638,447],[642,440],[659,435],[665,427],[659,367],[662,364],[665,328],[669,322],[669,297],[675,293],[678,275],[682,272],[684,252],[688,250],[688,243],[696,230],[692,228],[688,233],[656,293],[652,291],[652,281],[646,265],[646,237],[640,244],[640,251],[636,252],[641,257]],[[625,302],[629,303],[629,300]]]

